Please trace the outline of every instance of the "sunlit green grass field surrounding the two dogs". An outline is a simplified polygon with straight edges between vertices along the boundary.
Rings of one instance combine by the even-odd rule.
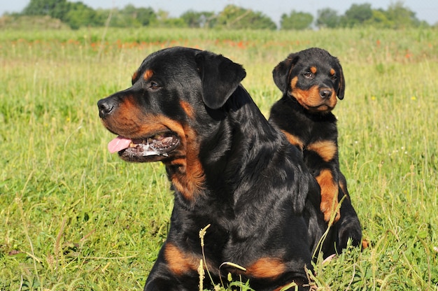
[[[320,290],[438,290],[438,31],[0,31],[0,290],[139,290],[172,194],[127,164],[96,103],[150,52],[185,45],[245,66],[264,114],[272,68],[311,46],[341,60],[341,170],[371,247],[316,265]]]

